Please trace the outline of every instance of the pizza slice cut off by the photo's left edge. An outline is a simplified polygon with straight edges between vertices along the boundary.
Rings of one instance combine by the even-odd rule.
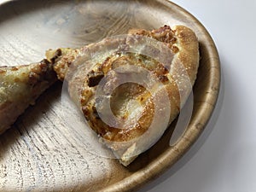
[[[13,125],[56,80],[52,64],[47,60],[18,67],[0,67],[0,133]]]

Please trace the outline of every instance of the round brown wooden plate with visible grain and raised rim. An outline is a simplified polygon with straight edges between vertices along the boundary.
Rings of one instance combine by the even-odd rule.
[[[61,83],[55,84],[0,137],[1,191],[127,191],[160,175],[200,136],[215,106],[218,52],[201,23],[166,0],[20,0],[0,6],[0,65],[40,61],[44,51],[79,47],[131,27],[191,27],[200,41],[201,66],[194,111],[183,138],[169,146],[173,125],[131,166],[91,154],[83,130],[61,120]]]

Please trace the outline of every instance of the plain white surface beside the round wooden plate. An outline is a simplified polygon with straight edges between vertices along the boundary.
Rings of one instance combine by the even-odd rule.
[[[140,192],[256,191],[256,1],[174,0],[206,26],[222,67],[207,130],[182,160]]]

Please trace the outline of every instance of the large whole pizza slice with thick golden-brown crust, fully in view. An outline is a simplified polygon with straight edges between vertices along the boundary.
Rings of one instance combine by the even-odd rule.
[[[186,26],[173,26],[172,28],[163,26],[151,32],[132,29],[129,34],[132,38],[120,38],[117,42],[111,42],[111,39],[107,38],[99,44],[90,44],[82,49],[57,49],[46,53],[49,61],[54,63],[58,78],[63,80],[67,78],[72,65],[76,68],[76,65],[83,63],[79,60],[83,61],[84,53],[100,51],[103,45],[107,47],[108,44],[112,46],[116,43],[129,45],[129,39],[131,41],[145,37],[164,43],[172,50],[170,55],[172,59],[166,58],[166,61],[170,61],[167,66],[147,55],[116,51],[108,57],[102,56],[97,62],[91,62],[84,71],[79,71],[75,76],[67,78],[71,86],[69,93],[84,113],[91,129],[96,131],[101,141],[112,149],[113,154],[124,166],[128,166],[138,154],[151,147],[164,133],[167,125],[170,125],[177,117],[195,83],[199,65],[198,39],[195,33]],[[149,73],[153,73],[154,77],[160,81],[160,87],[153,86],[153,90],[148,90],[142,84],[127,82],[108,93],[112,86],[116,86],[115,79],[118,79],[120,75],[119,72],[114,71],[115,68],[127,67],[127,65],[142,67]],[[125,75],[129,77],[134,73],[137,75],[143,73],[140,70],[137,72],[132,69],[127,70]],[[102,79],[105,79],[107,83],[105,82],[106,84],[99,90],[105,89],[106,91],[102,92],[103,96],[97,96],[96,91],[101,86]],[[167,102],[164,98],[165,94],[168,97]],[[105,105],[108,99],[111,101],[109,102],[110,111]],[[159,111],[155,111],[154,102],[160,103]],[[165,112],[166,108],[170,108],[168,117],[165,116],[166,113],[161,113],[161,111]],[[123,119],[125,123],[119,124],[122,127],[109,125],[102,119],[104,115],[108,116],[108,111],[110,117],[113,113],[117,119]],[[102,116],[102,113],[105,114]],[[154,122],[156,126],[151,128],[155,113],[159,113],[162,119],[156,119],[156,123]],[[167,119],[167,125],[161,125],[163,119]]]

